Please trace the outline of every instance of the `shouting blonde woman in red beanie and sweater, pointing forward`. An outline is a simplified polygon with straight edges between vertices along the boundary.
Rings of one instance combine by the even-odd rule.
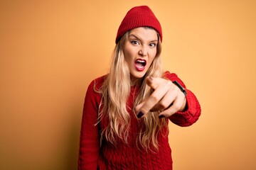
[[[127,12],[109,74],[87,89],[78,169],[172,169],[169,120],[192,125],[201,107],[176,74],[162,71],[162,40],[148,6]]]

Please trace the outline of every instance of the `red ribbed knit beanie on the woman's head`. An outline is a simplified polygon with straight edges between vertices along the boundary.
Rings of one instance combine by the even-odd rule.
[[[116,44],[128,30],[142,26],[154,28],[159,33],[161,41],[163,40],[161,25],[151,9],[148,6],[135,6],[124,16],[117,31]]]

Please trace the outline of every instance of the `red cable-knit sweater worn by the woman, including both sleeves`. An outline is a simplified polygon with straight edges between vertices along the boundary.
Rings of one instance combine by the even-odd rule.
[[[186,87],[176,74],[166,72],[166,77],[171,81],[178,81],[181,86]],[[97,113],[101,101],[99,93],[94,91],[94,85],[100,89],[105,77],[99,77],[92,81],[87,89],[85,103],[82,115],[82,125],[80,133],[80,148],[78,157],[78,169],[172,169],[171,148],[169,147],[168,129],[162,128],[159,132],[159,150],[146,152],[144,149],[137,148],[136,135],[139,132],[140,120],[135,118],[132,110],[127,110],[131,116],[131,125],[129,129],[129,145],[124,144],[122,140],[117,139],[117,146],[110,142],[102,141],[100,147],[100,130],[107,126],[105,118],[100,124],[97,122]],[[132,87],[131,94],[137,94],[138,89]],[[177,112],[169,117],[171,122],[180,126],[188,126],[198,120],[201,115],[201,107],[196,96],[186,89],[187,110]],[[127,108],[134,108],[133,102],[135,96],[130,95],[127,100]]]

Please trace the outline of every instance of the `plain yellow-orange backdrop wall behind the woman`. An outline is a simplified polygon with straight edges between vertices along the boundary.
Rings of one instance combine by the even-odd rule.
[[[170,125],[176,170],[256,169],[256,1],[0,1],[0,169],[76,169],[87,85],[107,72],[119,23],[146,4],[164,67],[201,102]]]

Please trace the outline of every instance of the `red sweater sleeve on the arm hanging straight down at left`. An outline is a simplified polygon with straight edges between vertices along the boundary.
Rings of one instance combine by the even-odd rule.
[[[92,81],[87,88],[82,113],[78,170],[97,169],[100,150],[100,128],[95,123],[97,123],[99,100],[100,94],[94,91],[94,81]]]

